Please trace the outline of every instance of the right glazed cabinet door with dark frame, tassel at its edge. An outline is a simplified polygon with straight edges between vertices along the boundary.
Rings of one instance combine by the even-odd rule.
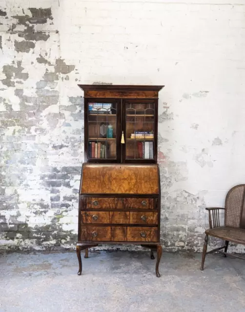
[[[122,162],[157,162],[157,99],[125,99],[122,101],[122,128],[125,144]]]

